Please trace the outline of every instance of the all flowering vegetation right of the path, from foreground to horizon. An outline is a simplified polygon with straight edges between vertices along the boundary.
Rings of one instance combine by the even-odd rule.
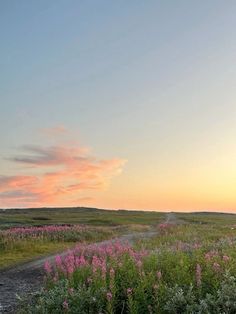
[[[175,217],[133,246],[78,245],[46,262],[26,313],[236,313],[235,217]]]

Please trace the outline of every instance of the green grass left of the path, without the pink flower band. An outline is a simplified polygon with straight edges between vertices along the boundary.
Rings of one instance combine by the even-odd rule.
[[[0,230],[11,227],[79,224],[90,228],[89,236],[78,242],[97,242],[115,235],[143,231],[156,225],[164,215],[155,212],[114,211],[96,208],[35,208],[0,210]],[[97,229],[102,227],[100,229]],[[99,231],[98,231],[99,230]],[[75,242],[27,240],[12,244],[3,250],[0,243],[0,268],[17,265],[75,245]]]

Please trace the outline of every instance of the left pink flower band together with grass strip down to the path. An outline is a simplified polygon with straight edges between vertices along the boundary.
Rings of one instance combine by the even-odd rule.
[[[90,243],[124,232],[114,227],[43,226],[0,231],[0,269],[69,249],[76,243]]]

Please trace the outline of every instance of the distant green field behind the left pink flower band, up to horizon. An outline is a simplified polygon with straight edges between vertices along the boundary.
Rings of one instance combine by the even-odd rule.
[[[84,224],[93,226],[155,225],[160,223],[163,217],[163,213],[157,212],[102,210],[84,207],[0,209],[0,229],[52,224]]]

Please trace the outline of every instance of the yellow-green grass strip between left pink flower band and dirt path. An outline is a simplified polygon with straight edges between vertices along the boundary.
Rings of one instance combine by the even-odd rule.
[[[0,269],[29,262],[42,256],[62,252],[78,243],[99,242],[126,232],[124,227],[86,227],[81,232],[64,232],[64,238],[7,238],[0,234]]]

